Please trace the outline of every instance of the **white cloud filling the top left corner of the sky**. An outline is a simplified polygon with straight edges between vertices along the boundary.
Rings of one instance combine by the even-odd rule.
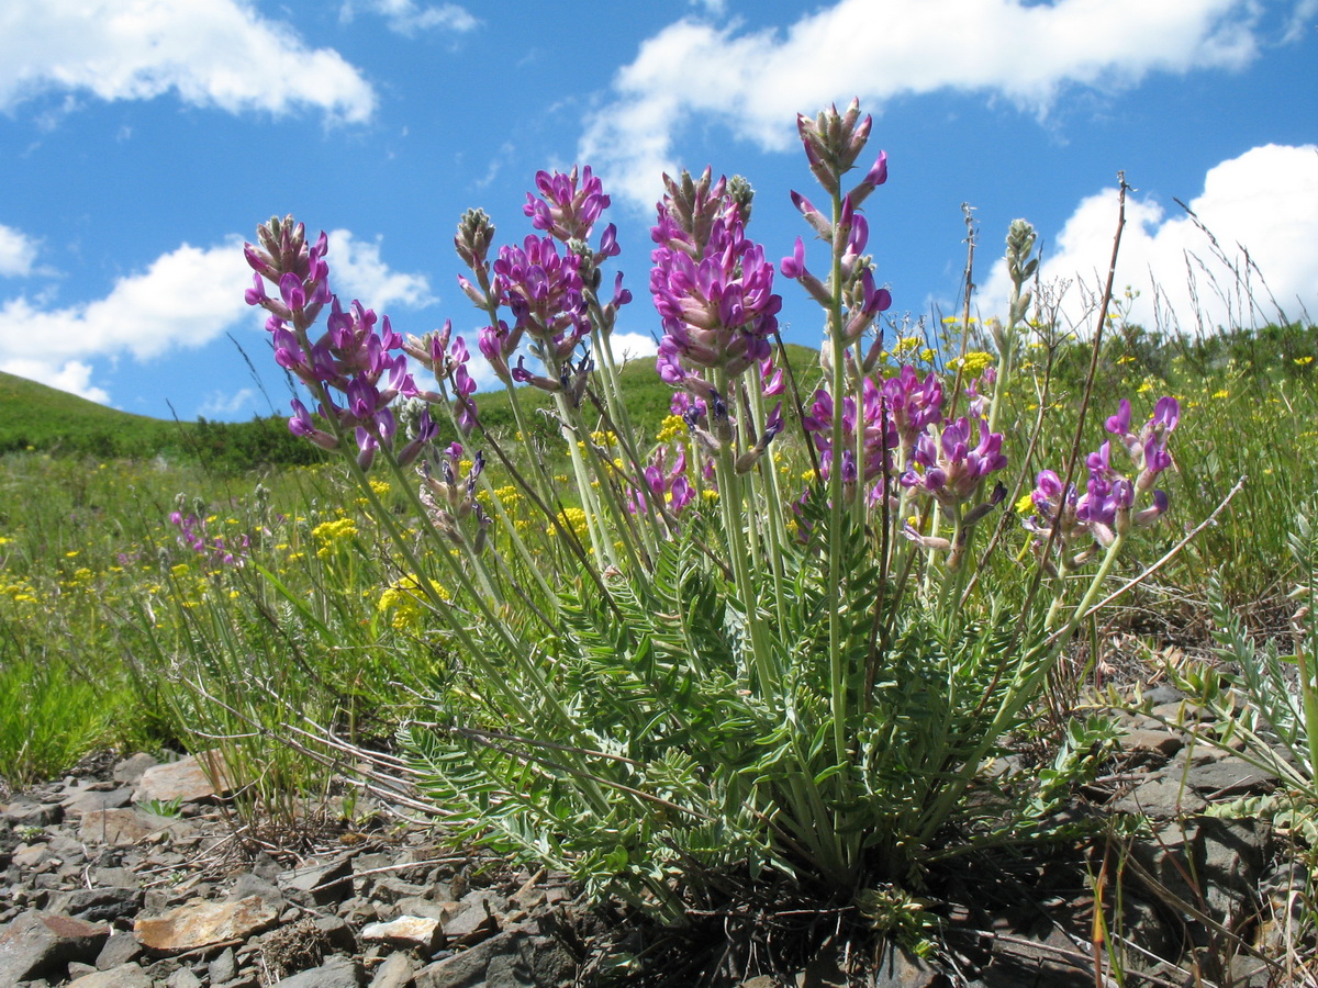
[[[174,92],[231,113],[308,107],[370,117],[376,95],[332,49],[310,49],[245,0],[33,0],[0,5],[0,111],[43,92],[142,100]]]

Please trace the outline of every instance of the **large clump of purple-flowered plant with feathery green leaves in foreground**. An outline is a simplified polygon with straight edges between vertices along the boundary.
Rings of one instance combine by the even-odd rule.
[[[368,498],[368,469],[397,474],[413,528],[373,501],[407,572],[395,586],[414,590],[453,656],[434,718],[405,727],[405,756],[387,765],[457,834],[671,922],[770,873],[863,904],[875,883],[909,879],[977,817],[1000,814],[967,798],[981,769],[1028,723],[1130,534],[1168,508],[1152,485],[1172,465],[1178,407],[1164,399],[1135,431],[1123,402],[1114,439],[1085,460],[1083,493],[1045,469],[1023,499],[1052,593],[1019,593],[990,553],[977,557],[1011,472],[1017,493],[1028,486],[998,423],[1033,233],[1014,224],[1008,237],[1015,291],[998,366],[967,379],[961,361],[949,379],[902,365],[878,327],[892,299],[862,211],[886,154],[847,187],[870,128],[855,103],[799,120],[825,206],[792,200],[821,241],[821,275],[804,240],[774,265],[747,236],[743,180],[664,177],[648,287],[677,424],[654,445],[630,423],[610,344],[633,296],[621,274],[601,294],[619,246],[612,225],[597,234],[600,179],[540,173],[525,207],[536,233],[493,260],[489,217],[463,217],[459,282],[485,323],[477,346],[521,436],[517,385],[552,395],[567,483],[543,457],[519,466],[481,424],[469,349],[449,325],[403,339],[360,303],[344,308],[324,237],[308,244],[291,217],[248,246],[248,300],[269,311],[275,360],[318,410],[294,402],[290,428],[341,453]],[[822,310],[820,375],[804,397],[778,336],[782,279]],[[427,403],[406,441],[401,397]],[[465,445],[440,448],[432,415]],[[514,519],[496,465],[535,524]],[[1087,586],[1074,602],[1077,577]]]

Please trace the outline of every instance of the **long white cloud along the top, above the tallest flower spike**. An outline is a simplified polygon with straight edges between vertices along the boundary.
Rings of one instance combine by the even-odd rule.
[[[1257,53],[1257,17],[1251,0],[840,0],[782,32],[681,20],[617,72],[613,97],[585,121],[580,159],[648,208],[692,117],[786,150],[797,112],[851,96],[878,111],[953,90],[1045,113],[1069,86],[1240,67]]]

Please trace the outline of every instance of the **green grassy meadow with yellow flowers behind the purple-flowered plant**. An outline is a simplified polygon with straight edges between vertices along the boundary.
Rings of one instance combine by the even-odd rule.
[[[1136,418],[1165,393],[1178,395],[1185,408],[1173,444],[1180,473],[1165,478],[1172,523],[1145,537],[1120,576],[1155,560],[1242,474],[1249,478],[1231,508],[1136,603],[1193,617],[1214,574],[1252,627],[1267,630],[1289,614],[1282,599],[1290,568],[1285,537],[1318,477],[1318,361],[1306,360],[1315,344],[1318,332],[1300,328],[1184,348],[1147,336],[1112,337],[1101,361],[1086,449],[1106,437],[1102,423],[1119,395],[1133,397]],[[789,350],[808,406],[818,357]],[[1053,449],[1074,428],[1085,365],[1081,350],[1060,361],[1056,407],[1045,423]],[[652,437],[668,414],[671,390],[650,361],[627,366],[623,382],[633,422]],[[536,393],[525,398],[531,407],[547,404]],[[1033,398],[1028,386],[1012,397],[1021,420],[1032,419]],[[477,400],[492,432],[525,457],[507,395],[486,393]],[[792,404],[786,395],[788,411]],[[547,448],[555,448],[560,440],[550,420],[532,415]],[[344,730],[386,738],[405,713],[394,706],[406,693],[401,685],[423,681],[445,661],[448,645],[411,620],[406,606],[381,607],[386,588],[405,578],[406,566],[380,548],[384,540],[364,502],[339,473],[278,465],[286,461],[252,454],[254,443],[233,439],[268,429],[282,443],[282,420],[248,423],[248,432],[178,425],[0,375],[0,444],[20,449],[0,456],[0,777],[14,782],[51,775],[96,746],[214,747],[203,732],[243,734],[241,718],[221,717],[217,707],[204,717],[185,680],[265,730],[274,730],[279,706],[297,698]],[[784,477],[796,477],[808,464],[796,427],[788,428],[779,443],[796,453]],[[136,452],[101,456],[91,448],[98,436],[113,436],[116,449]],[[1014,466],[1024,443],[1023,429],[1008,437]],[[26,445],[38,449],[28,452]],[[183,447],[191,452],[178,453]],[[298,444],[297,452],[312,464],[320,458],[310,444]],[[237,464],[244,456],[248,466],[266,466],[243,472]],[[1028,477],[1045,465],[1056,466],[1031,464]],[[493,461],[490,474],[496,486],[506,483]],[[406,516],[398,491],[385,501]],[[182,548],[169,523],[175,508],[210,518],[208,531],[248,534],[250,564],[220,572]],[[518,516],[543,536],[543,519]],[[320,528],[326,523],[344,522],[357,532],[347,543],[316,534],[331,531]],[[1015,556],[1024,543],[1015,526],[1008,528]],[[1166,599],[1178,603],[1172,609]],[[266,684],[283,688],[253,690],[236,674],[241,669],[260,671]],[[84,696],[87,682],[99,685],[95,696]],[[38,723],[41,731],[24,728]],[[239,767],[272,755],[236,746],[232,757]],[[303,789],[324,785],[319,769],[304,764],[301,771]],[[295,764],[281,765],[281,777],[298,772]],[[278,802],[269,790],[261,801]]]

